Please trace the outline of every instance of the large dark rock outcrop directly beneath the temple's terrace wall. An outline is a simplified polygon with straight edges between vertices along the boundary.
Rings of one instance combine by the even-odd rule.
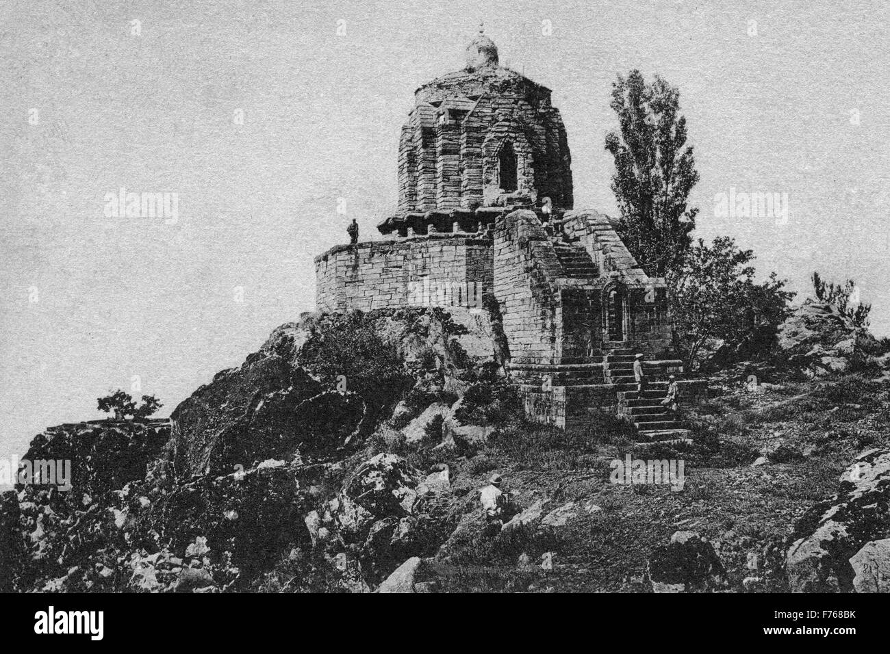
[[[174,410],[176,472],[329,458],[374,432],[412,388],[430,393],[431,403],[435,392],[462,392],[497,368],[484,316],[355,311],[305,314],[279,327],[241,366],[218,373]],[[436,413],[416,420],[411,433],[421,438]]]

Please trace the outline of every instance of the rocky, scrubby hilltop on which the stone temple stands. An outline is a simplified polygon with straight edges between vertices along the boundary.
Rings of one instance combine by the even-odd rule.
[[[613,416],[525,422],[487,311],[306,314],[169,423],[36,436],[72,488],[0,495],[0,590],[886,591],[874,339],[808,303],[781,347],[714,375],[691,443],[643,452]],[[683,488],[611,482],[625,456],[683,459]]]

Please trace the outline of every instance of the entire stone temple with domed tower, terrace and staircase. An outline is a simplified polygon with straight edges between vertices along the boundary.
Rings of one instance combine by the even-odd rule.
[[[643,272],[610,217],[574,208],[550,89],[498,65],[480,32],[464,69],[415,92],[398,175],[384,239],[316,257],[319,311],[484,305],[502,320],[532,419],[564,428],[606,410],[653,436],[684,435],[658,405],[667,374],[683,376],[665,281]],[[642,396],[635,352],[654,380]]]

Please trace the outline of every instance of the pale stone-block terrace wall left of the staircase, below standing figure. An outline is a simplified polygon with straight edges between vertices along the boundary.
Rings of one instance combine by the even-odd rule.
[[[482,309],[493,286],[491,240],[430,234],[335,246],[315,258],[319,311],[408,306]]]

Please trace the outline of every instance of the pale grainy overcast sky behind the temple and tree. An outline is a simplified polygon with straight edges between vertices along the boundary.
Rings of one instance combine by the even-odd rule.
[[[852,277],[890,333],[887,3],[728,4],[4,0],[0,456],[135,377],[167,415],[311,311],[312,256],[352,217],[376,237],[413,92],[481,21],[553,89],[576,207],[614,214],[611,82],[657,73],[695,146],[698,235],[794,290]],[[178,221],[109,218],[121,187],[177,193]],[[788,224],[716,216],[731,188],[787,193]]]

